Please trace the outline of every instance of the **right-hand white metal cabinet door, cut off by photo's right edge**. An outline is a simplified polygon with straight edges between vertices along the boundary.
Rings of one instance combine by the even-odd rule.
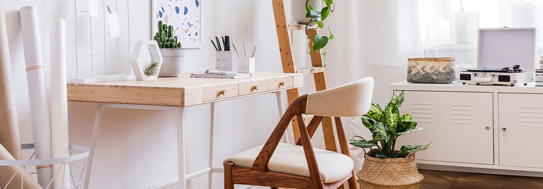
[[[498,94],[500,165],[543,167],[542,99],[543,94]]]

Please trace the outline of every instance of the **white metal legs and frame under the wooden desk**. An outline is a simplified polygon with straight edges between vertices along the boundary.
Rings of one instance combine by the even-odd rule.
[[[299,77],[301,78],[301,74],[299,74]],[[132,105],[132,104],[122,104],[122,103],[98,102],[98,105],[97,105],[97,108],[96,108],[96,115],[95,115],[95,118],[94,118],[94,126],[93,126],[93,130],[92,130],[92,138],[91,138],[91,145],[90,145],[90,155],[89,155],[89,159],[87,160],[87,169],[86,169],[86,172],[85,172],[84,188],[89,188],[91,175],[92,175],[92,165],[93,165],[93,162],[94,162],[94,154],[95,154],[94,152],[96,152],[96,147],[97,147],[97,144],[98,144],[98,135],[99,135],[99,131],[100,131],[100,125],[101,125],[101,121],[102,121],[103,109],[104,108],[128,108],[128,109],[174,110],[174,111],[176,111],[177,129],[178,129],[178,164],[179,164],[179,167],[178,167],[179,173],[178,173],[178,175],[179,175],[179,178],[168,181],[168,182],[160,184],[160,185],[156,185],[154,187],[150,187],[150,188],[166,188],[166,187],[174,186],[175,184],[179,183],[179,188],[185,189],[186,188],[186,180],[190,180],[190,179],[199,177],[200,175],[204,175],[204,174],[209,174],[209,182],[208,183],[209,183],[209,188],[211,188],[211,186],[212,186],[212,173],[223,173],[224,172],[222,167],[220,167],[220,168],[219,167],[213,167],[213,135],[214,135],[213,132],[214,132],[215,102],[231,100],[231,99],[237,99],[237,98],[241,98],[241,97],[248,97],[248,96],[261,95],[261,94],[275,93],[276,94],[276,99],[277,99],[277,107],[278,107],[278,110],[279,110],[279,116],[281,117],[283,112],[284,112],[282,99],[281,99],[281,91],[299,87],[301,85],[301,81],[298,81],[298,82],[300,82],[300,83],[294,84],[293,87],[281,88],[281,89],[276,89],[276,90],[268,90],[268,91],[255,93],[255,94],[238,95],[238,96],[235,96],[235,97],[228,97],[228,98],[225,98],[225,99],[217,99],[217,100],[212,100],[212,101],[199,103],[199,105],[203,105],[203,104],[206,104],[206,103],[210,103],[210,105],[211,105],[211,108],[210,108],[210,116],[211,116],[211,118],[210,118],[210,144],[209,144],[209,154],[210,155],[209,155],[209,164],[208,164],[209,166],[202,169],[202,170],[199,170],[199,171],[196,171],[196,172],[193,172],[193,173],[190,173],[190,174],[186,174],[186,169],[185,169],[185,122],[184,122],[184,114],[185,114],[185,108],[186,107],[183,107],[183,106],[178,107],[178,106],[156,106],[156,105]],[[70,99],[70,89],[68,89],[68,99]],[[74,100],[72,100],[72,101],[74,101]],[[287,133],[285,133],[285,135],[283,135],[283,140],[285,142],[288,142]]]

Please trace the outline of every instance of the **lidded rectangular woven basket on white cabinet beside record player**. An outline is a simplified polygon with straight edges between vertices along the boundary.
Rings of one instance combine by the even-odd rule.
[[[407,58],[407,81],[450,83],[454,81],[454,58]]]

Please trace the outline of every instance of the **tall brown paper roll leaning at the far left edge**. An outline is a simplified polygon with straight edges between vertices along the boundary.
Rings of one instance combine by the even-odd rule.
[[[0,144],[15,158],[21,159],[21,140],[17,123],[15,96],[11,84],[8,32],[4,3],[0,0]]]

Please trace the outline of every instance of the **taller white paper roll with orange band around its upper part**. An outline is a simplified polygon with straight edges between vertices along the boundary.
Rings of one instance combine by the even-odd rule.
[[[20,9],[20,15],[34,152],[36,159],[49,159],[52,158],[51,127],[36,8],[24,6]],[[36,166],[37,180],[42,187],[47,187],[53,178],[51,167],[51,165]]]

